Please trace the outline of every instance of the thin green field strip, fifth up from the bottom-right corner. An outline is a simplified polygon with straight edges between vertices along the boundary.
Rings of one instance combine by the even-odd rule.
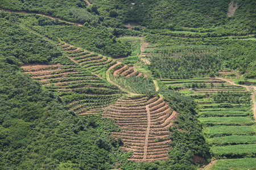
[[[249,123],[251,122],[250,117],[200,117],[199,120],[203,123]]]

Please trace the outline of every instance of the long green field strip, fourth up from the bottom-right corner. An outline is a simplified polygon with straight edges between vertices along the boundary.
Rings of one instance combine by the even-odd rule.
[[[255,133],[255,126],[212,126],[204,129],[208,134],[241,134]]]

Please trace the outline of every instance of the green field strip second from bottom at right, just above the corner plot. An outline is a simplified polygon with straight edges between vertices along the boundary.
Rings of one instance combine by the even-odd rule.
[[[256,144],[216,146],[211,150],[214,154],[226,156],[255,154]]]

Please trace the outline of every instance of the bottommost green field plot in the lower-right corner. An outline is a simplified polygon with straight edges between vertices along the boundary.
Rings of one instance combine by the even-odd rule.
[[[229,169],[241,169],[241,170],[255,170],[256,158],[242,158],[242,159],[222,159],[217,160],[215,164],[209,169],[211,170],[229,170]]]

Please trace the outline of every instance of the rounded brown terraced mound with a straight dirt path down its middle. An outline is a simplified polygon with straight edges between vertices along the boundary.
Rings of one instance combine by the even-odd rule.
[[[102,114],[113,118],[122,131],[113,132],[122,138],[124,149],[133,152],[130,160],[168,159],[170,131],[177,118],[162,96],[137,96],[119,99]]]

